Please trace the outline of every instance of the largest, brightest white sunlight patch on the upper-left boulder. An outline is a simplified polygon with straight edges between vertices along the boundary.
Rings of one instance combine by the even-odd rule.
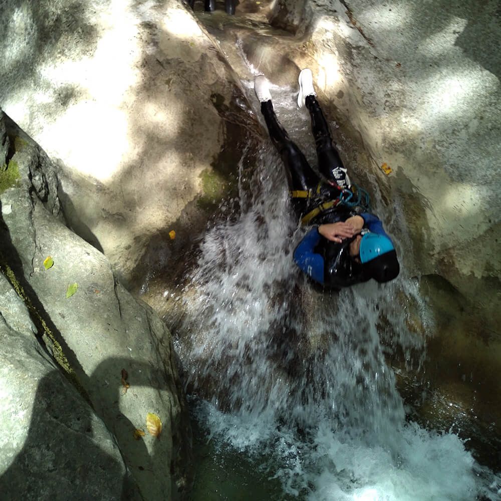
[[[94,53],[41,66],[44,86],[32,95],[35,106],[53,105],[52,123],[43,127],[37,139],[66,164],[99,181],[109,180],[129,154],[125,109],[140,75],[135,20],[121,4],[112,2],[109,15],[99,18],[102,36]],[[65,86],[70,89],[68,102],[61,98]],[[20,124],[33,120],[37,127],[30,107],[21,104],[24,101],[20,95],[18,103],[8,102],[5,108]],[[102,133],[92,133],[96,123]]]

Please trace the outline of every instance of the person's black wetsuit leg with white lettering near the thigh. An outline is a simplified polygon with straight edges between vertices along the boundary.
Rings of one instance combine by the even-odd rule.
[[[329,131],[329,125],[322,113],[320,104],[315,96],[307,96],[305,100],[306,107],[310,112],[312,120],[312,132],[317,146],[318,170],[327,178],[336,184],[345,188],[348,186],[346,179],[346,170],[339,153],[332,144],[332,137]]]

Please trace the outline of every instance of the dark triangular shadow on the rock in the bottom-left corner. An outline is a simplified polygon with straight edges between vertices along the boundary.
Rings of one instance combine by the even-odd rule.
[[[39,383],[23,449],[0,477],[4,501],[141,499],[118,446],[57,370]],[[71,494],[70,494],[71,493]]]

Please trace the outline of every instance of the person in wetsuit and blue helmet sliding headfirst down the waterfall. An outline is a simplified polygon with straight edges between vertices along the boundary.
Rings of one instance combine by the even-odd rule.
[[[396,278],[400,266],[393,242],[379,218],[369,212],[367,192],[351,184],[316,99],[311,70],[306,68],[299,75],[298,106],[306,105],[310,112],[320,175],[279,123],[264,75],[256,77],[254,90],[286,167],[293,208],[302,224],[313,225],[294,251],[299,268],[315,282],[334,289]]]

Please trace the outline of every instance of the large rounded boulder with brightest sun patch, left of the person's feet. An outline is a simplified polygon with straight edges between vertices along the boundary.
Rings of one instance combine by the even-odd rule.
[[[203,228],[239,158],[241,91],[180,0],[18,4],[2,8],[0,106],[59,159],[69,224],[130,284],[152,239]]]

